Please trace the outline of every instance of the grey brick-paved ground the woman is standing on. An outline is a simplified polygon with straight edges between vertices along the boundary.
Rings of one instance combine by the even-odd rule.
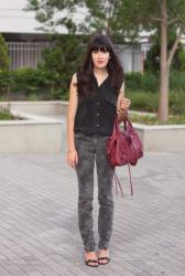
[[[61,153],[0,155],[0,276],[185,275],[185,153],[145,153],[118,176],[110,264],[84,264],[76,174]],[[95,236],[97,235],[95,183]]]

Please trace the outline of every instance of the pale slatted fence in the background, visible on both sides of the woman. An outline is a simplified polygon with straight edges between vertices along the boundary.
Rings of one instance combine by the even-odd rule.
[[[21,67],[35,68],[42,61],[42,51],[53,46],[51,42],[8,42],[10,54],[10,70]],[[123,65],[124,72],[142,72],[144,51],[141,45],[121,45],[116,44],[115,50],[118,53]]]

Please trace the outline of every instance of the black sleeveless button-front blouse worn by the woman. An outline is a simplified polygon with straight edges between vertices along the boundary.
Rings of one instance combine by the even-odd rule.
[[[109,76],[99,86],[95,75],[91,82],[96,93],[90,96],[78,95],[74,130],[88,135],[111,135],[118,94],[111,87]]]

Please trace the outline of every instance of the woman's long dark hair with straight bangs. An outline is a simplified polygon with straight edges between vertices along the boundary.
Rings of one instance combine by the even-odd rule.
[[[78,94],[90,95],[94,93],[94,87],[91,86],[91,77],[94,74],[94,63],[91,60],[91,52],[97,51],[108,51],[110,54],[110,59],[107,65],[107,71],[110,78],[110,85],[119,94],[119,89],[123,82],[123,68],[121,63],[115,53],[112,43],[107,35],[97,34],[92,36],[89,41],[84,64],[77,72],[77,92]]]

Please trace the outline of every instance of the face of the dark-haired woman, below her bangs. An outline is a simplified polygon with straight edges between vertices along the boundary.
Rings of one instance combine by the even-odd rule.
[[[107,67],[109,59],[110,59],[110,53],[106,50],[98,49],[91,52],[91,60],[92,60],[94,66],[97,68]]]

